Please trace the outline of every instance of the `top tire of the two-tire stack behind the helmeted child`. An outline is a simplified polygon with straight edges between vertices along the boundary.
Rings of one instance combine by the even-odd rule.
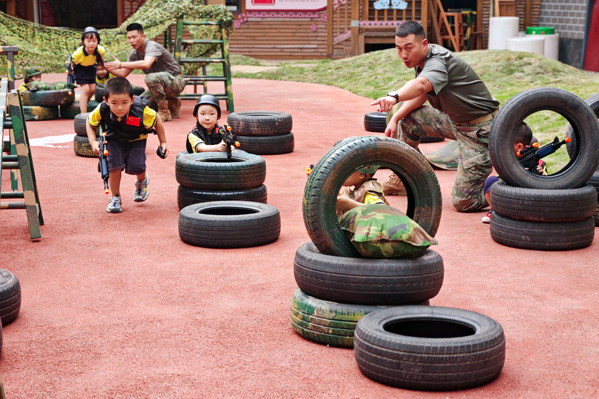
[[[231,131],[240,136],[280,136],[291,132],[293,121],[286,112],[232,112],[227,117]]]

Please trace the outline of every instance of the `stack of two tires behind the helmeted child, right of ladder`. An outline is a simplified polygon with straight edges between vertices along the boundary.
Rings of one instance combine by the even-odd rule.
[[[293,152],[293,121],[286,112],[233,112],[227,117],[240,149],[251,154],[275,155]]]

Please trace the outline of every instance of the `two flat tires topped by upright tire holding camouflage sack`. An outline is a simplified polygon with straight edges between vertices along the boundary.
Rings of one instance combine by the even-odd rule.
[[[410,203],[406,214],[431,236],[441,219],[441,192],[428,161],[397,140],[354,137],[336,144],[315,165],[304,191],[304,222],[312,242],[298,248],[291,324],[311,341],[353,347],[364,315],[388,306],[428,304],[443,284],[443,259],[432,249],[416,259],[359,257],[341,230],[335,212],[342,183],[365,160],[388,167],[404,179]]]

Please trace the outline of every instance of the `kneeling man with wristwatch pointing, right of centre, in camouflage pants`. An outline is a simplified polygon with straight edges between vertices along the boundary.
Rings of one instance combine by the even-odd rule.
[[[488,206],[483,184],[492,170],[489,131],[499,102],[468,64],[446,48],[429,44],[418,22],[404,22],[395,35],[397,53],[406,67],[415,69],[416,78],[372,103],[382,112],[400,104],[385,135],[416,149],[423,136],[457,140],[460,157],[453,206],[460,212]],[[427,101],[430,105],[424,105]],[[403,189],[395,175],[383,187],[387,195]]]

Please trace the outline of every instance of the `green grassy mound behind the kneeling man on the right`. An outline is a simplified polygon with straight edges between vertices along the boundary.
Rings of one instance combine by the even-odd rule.
[[[582,71],[537,54],[508,50],[478,50],[458,53],[485,82],[501,104],[514,95],[536,87],[557,87],[586,99],[596,94],[599,74]],[[250,63],[251,62],[251,63]],[[233,54],[232,65],[273,65]],[[257,73],[234,72],[235,78],[287,80],[339,87],[354,94],[378,98],[414,78],[397,56],[395,49],[366,53],[341,60],[288,61],[274,63],[276,69]],[[526,119],[541,145],[555,136],[564,138],[565,119],[555,112],[539,112]],[[566,164],[565,148],[548,158],[550,170]],[[551,164],[550,162],[551,161]],[[552,168],[552,164],[555,166]],[[559,168],[557,168],[559,169]]]

